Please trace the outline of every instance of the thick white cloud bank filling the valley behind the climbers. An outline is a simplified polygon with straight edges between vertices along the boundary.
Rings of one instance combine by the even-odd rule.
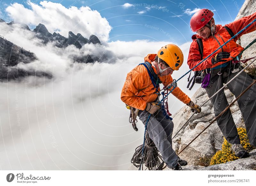
[[[74,46],[60,49],[52,43],[40,45],[32,32],[15,24],[0,24],[0,30],[6,39],[38,57],[19,68],[54,76],[51,80],[31,76],[1,82],[1,169],[127,170],[134,149],[143,143],[144,125],[138,120],[139,131],[132,129],[121,89],[128,72],[169,42],[116,41],[86,44],[81,50]],[[184,61],[189,47],[190,43],[180,45]],[[105,63],[74,64],[69,56],[79,52],[109,57]],[[172,77],[177,79],[187,71],[184,63]],[[186,91],[187,79],[178,86]],[[191,96],[193,91],[196,87],[186,93]],[[172,95],[168,101],[172,114],[184,106]]]

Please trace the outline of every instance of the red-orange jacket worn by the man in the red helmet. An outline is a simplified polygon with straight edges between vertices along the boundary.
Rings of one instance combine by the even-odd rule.
[[[232,23],[229,23],[225,26],[230,28],[232,30],[233,34],[235,35],[237,32],[239,32],[241,29],[243,29],[245,26],[247,26],[250,22],[252,22],[255,18],[256,18],[256,12],[250,16],[243,17],[243,18],[238,19],[238,20],[236,20]],[[212,57],[221,51],[230,52],[230,60],[233,60],[244,49],[240,45],[236,44],[237,39],[241,35],[250,33],[254,30],[256,30],[255,22],[250,27],[248,27],[244,32],[242,32],[240,35],[238,35],[238,37],[235,37],[233,40],[231,40],[226,45],[224,45],[219,51],[215,52],[211,57],[209,57],[203,63],[201,63],[199,66],[197,66],[195,69],[193,69],[193,71],[199,71],[199,70],[204,70],[207,68],[213,68],[220,64],[226,63],[226,61],[225,61],[225,62],[219,62],[219,63],[212,65]],[[231,36],[229,35],[227,29],[221,25],[216,25],[214,37],[210,36],[207,39],[203,39],[199,35],[193,35],[192,36],[193,42],[190,45],[190,50],[189,50],[189,54],[188,54],[188,66],[190,69],[193,68],[194,66],[196,66],[199,62],[201,62],[201,55],[199,52],[199,46],[196,42],[196,38],[202,39],[203,49],[204,49],[203,50],[203,58],[206,58],[214,50],[216,50],[218,47],[220,47],[223,43],[228,41],[231,38]]]

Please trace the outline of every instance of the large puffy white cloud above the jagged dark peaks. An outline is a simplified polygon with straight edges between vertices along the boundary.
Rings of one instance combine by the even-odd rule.
[[[67,36],[68,32],[72,31],[75,34],[81,33],[87,38],[94,34],[99,37],[100,41],[108,41],[111,27],[107,19],[88,6],[65,8],[59,3],[48,1],[42,1],[40,5],[31,1],[27,3],[30,9],[22,4],[14,3],[6,8],[6,12],[17,23],[27,25],[42,23],[50,33],[58,31],[61,35]]]

